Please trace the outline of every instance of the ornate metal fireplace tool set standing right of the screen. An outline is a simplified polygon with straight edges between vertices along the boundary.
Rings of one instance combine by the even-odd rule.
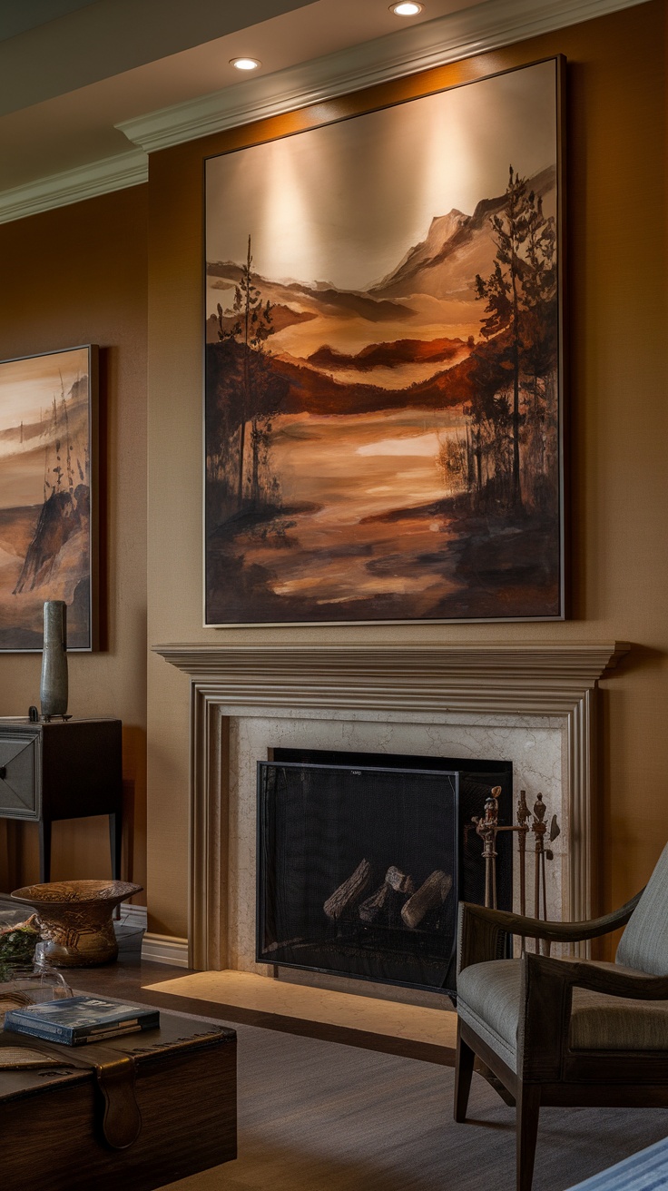
[[[545,835],[548,824],[545,823],[547,806],[543,796],[538,794],[533,803],[533,811],[526,805],[526,791],[520,790],[517,804],[517,823],[504,827],[499,823],[499,797],[500,786],[493,786],[489,797],[485,802],[485,813],[474,816],[475,830],[482,840],[482,859],[485,860],[485,905],[492,910],[497,909],[497,836],[500,831],[516,831],[519,849],[519,912],[526,913],[526,837],[531,831],[535,836],[535,867],[533,867],[533,917],[548,918],[547,890],[545,890],[545,860],[552,860],[552,852],[545,848]],[[549,827],[549,843],[552,843],[561,834],[556,815],[552,815]],[[538,940],[536,940],[538,949]]]

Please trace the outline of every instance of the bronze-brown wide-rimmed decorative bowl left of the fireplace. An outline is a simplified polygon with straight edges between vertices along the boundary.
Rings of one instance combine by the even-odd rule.
[[[12,897],[37,910],[49,964],[96,967],[118,955],[113,911],[142,888],[130,881],[50,881],[14,890]]]

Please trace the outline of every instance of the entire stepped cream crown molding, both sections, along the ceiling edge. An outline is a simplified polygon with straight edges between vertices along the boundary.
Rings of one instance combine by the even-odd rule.
[[[150,112],[116,127],[135,149],[0,192],[0,223],[148,181],[146,154],[500,49],[647,0],[483,0],[311,62]]]

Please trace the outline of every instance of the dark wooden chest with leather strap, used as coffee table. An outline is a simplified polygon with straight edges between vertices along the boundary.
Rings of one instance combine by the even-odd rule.
[[[104,1046],[0,1033],[2,1048],[57,1059],[57,1066],[0,1071],[2,1191],[152,1191],[236,1158],[236,1043],[233,1030],[164,1012],[160,1029]],[[127,1139],[114,1139],[105,1112],[111,1104],[123,1118],[127,1098],[130,1116],[141,1115],[138,1136],[112,1148],[105,1134]]]

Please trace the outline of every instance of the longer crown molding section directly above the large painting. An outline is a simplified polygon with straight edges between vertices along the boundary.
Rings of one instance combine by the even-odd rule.
[[[123,120],[116,127],[133,144],[155,152],[645,2],[483,0],[336,54]]]

